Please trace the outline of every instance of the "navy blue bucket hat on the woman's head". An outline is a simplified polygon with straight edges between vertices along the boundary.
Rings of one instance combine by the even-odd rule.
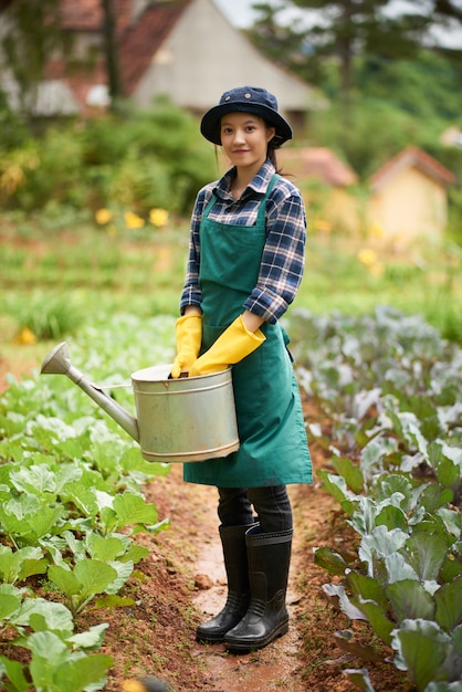
[[[259,86],[239,86],[232,88],[220,98],[218,106],[208,111],[201,120],[200,132],[209,141],[221,144],[220,118],[227,113],[252,113],[262,117],[276,134],[272,140],[280,147],[287,139],[292,139],[292,128],[288,123],[277,113],[277,99],[265,88]]]

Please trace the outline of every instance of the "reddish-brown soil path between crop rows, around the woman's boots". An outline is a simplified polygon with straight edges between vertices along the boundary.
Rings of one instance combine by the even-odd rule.
[[[36,364],[35,364],[36,365]],[[0,391],[4,374],[21,376],[0,359]],[[24,371],[24,370],[22,370]],[[328,427],[309,401],[305,416]],[[311,445],[315,471],[328,466],[323,449]],[[336,547],[351,554],[357,535],[345,522],[334,499],[321,484],[288,486],[294,511],[294,542],[287,605],[290,631],[261,651],[228,653],[222,644],[195,640],[197,625],[216,615],[225,600],[225,575],[218,534],[214,487],[182,482],[181,464],[166,478],[156,478],[145,494],[170,527],[158,534],[138,534],[149,555],[136,566],[122,596],[136,605],[112,610],[87,610],[77,627],[108,622],[102,652],[114,659],[105,690],[120,692],[126,679],[158,678],[175,692],[347,692],[355,690],[346,669],[369,671],[376,692],[410,692],[412,685],[390,662],[391,650],[374,639],[367,623],[349,621],[327,601],[323,584],[329,575],[314,564],[313,548]],[[363,660],[339,646],[337,631],[351,630],[355,641],[372,647]],[[387,662],[388,659],[388,662]],[[364,686],[358,689],[366,689]]]

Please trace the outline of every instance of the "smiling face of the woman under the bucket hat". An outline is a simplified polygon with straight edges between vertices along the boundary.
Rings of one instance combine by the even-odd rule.
[[[227,113],[221,118],[221,146],[234,166],[256,172],[266,160],[267,143],[275,132],[258,115]]]

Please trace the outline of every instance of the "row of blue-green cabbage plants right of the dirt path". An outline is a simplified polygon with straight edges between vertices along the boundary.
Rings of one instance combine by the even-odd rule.
[[[319,472],[358,535],[355,555],[318,548],[324,586],[351,630],[337,643],[377,660],[377,638],[419,692],[461,690],[462,352],[419,317],[296,315],[298,378],[332,423],[309,426],[332,455]],[[367,669],[345,671],[371,692]]]

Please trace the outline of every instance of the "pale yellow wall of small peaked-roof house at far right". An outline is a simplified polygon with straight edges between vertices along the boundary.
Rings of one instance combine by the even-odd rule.
[[[447,222],[445,188],[417,168],[401,170],[370,195],[367,222],[375,235],[398,245],[439,242]]]

